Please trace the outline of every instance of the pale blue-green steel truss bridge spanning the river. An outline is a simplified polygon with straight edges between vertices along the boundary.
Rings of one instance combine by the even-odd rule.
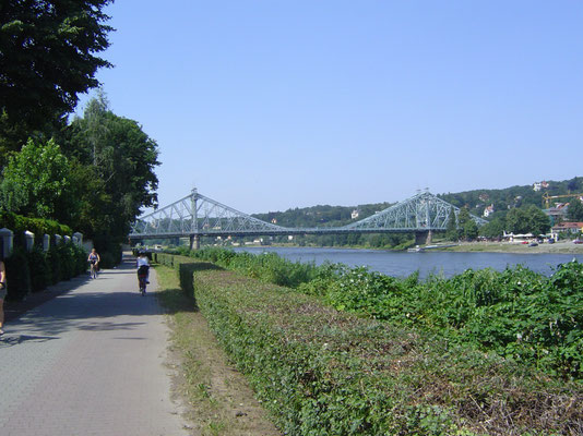
[[[287,228],[253,218],[193,189],[186,197],[139,218],[132,226],[130,240],[189,237],[191,247],[193,244],[198,247],[201,237],[411,232],[418,241],[430,243],[432,232],[447,230],[452,211],[457,219],[460,208],[425,191],[344,227]],[[487,222],[471,217],[478,226]]]

